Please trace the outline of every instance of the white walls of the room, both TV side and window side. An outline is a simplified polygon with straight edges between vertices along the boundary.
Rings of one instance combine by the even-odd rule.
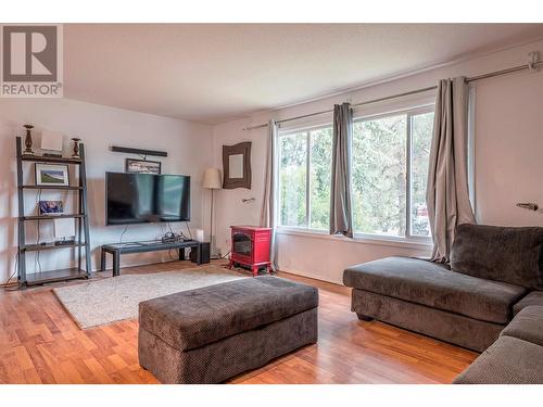
[[[192,176],[191,226],[209,227],[209,191],[200,180],[211,164],[222,167],[222,145],[252,141],[252,190],[222,190],[216,194],[216,242],[223,253],[229,250],[229,226],[257,224],[262,205],[266,128],[243,131],[252,124],[331,109],[333,103],[352,103],[432,86],[438,79],[481,73],[523,64],[529,51],[543,54],[543,41],[489,54],[471,61],[428,71],[391,82],[345,92],[296,106],[254,114],[214,128],[184,120],[141,114],[71,100],[0,101],[0,280],[14,270],[16,253],[15,138],[24,136],[23,124],[79,137],[86,144],[91,215],[92,259],[97,247],[118,241],[124,227],[104,226],[104,185],[106,170],[124,169],[127,155],[112,153],[112,144],[167,150],[161,160],[163,173]],[[516,208],[516,202],[543,204],[543,73],[521,73],[479,81],[476,88],[476,212],[480,222],[491,225],[540,225],[543,214]],[[330,120],[330,117],[328,117]],[[67,140],[66,140],[67,147]],[[210,154],[210,151],[212,154]],[[36,196],[27,196],[35,201]],[[46,198],[46,195],[43,195]],[[52,199],[53,196],[51,196]],[[255,202],[243,204],[243,198]],[[30,202],[31,203],[31,202]],[[176,225],[179,228],[180,225]],[[31,228],[29,228],[31,229]],[[47,227],[45,228],[47,233]],[[159,226],[131,226],[124,240],[152,239]],[[33,237],[33,230],[28,230]],[[345,266],[389,255],[428,255],[420,244],[399,245],[382,241],[350,242],[343,238],[303,233],[278,236],[278,263],[287,271],[340,282]],[[63,267],[63,255],[41,254],[43,269]],[[126,256],[124,265],[167,259],[167,254]],[[68,258],[70,259],[70,258]],[[35,264],[28,262],[29,271]]]

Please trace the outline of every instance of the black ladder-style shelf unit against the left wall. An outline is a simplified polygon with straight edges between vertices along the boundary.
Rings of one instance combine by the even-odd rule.
[[[80,158],[72,157],[50,157],[40,155],[23,154],[23,144],[21,137],[16,138],[17,151],[17,192],[18,192],[18,283],[21,287],[45,284],[54,281],[65,281],[90,277],[90,232],[89,218],[87,207],[87,176],[85,170],[85,145],[79,144]],[[23,162],[45,163],[45,164],[67,164],[78,167],[78,185],[77,186],[30,186],[24,185],[24,166]],[[56,216],[48,215],[25,215],[25,191],[27,190],[58,190],[58,191],[74,191],[78,193],[77,213],[62,214]],[[37,203],[36,203],[37,204]],[[39,221],[59,218],[73,218],[76,222],[76,240],[70,244],[29,244],[26,242],[25,224],[27,221]],[[65,268],[60,270],[42,271],[27,274],[26,271],[26,255],[28,252],[51,251],[56,249],[73,249],[76,250],[77,267]],[[85,253],[83,253],[85,251]],[[83,262],[85,259],[85,268]]]

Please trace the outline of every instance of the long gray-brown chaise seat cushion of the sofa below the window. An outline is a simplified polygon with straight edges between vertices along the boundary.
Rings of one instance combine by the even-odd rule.
[[[350,267],[343,272],[343,283],[496,323],[509,321],[513,304],[526,291],[408,257],[387,257]]]

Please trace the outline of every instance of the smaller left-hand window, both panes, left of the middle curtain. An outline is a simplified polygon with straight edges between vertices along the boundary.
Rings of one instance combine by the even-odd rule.
[[[331,126],[279,135],[279,225],[328,229]]]

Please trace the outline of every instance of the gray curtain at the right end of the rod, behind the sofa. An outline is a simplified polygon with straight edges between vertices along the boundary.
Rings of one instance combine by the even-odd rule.
[[[475,224],[467,176],[468,86],[464,78],[438,85],[426,201],[432,260],[449,263],[456,227]]]

